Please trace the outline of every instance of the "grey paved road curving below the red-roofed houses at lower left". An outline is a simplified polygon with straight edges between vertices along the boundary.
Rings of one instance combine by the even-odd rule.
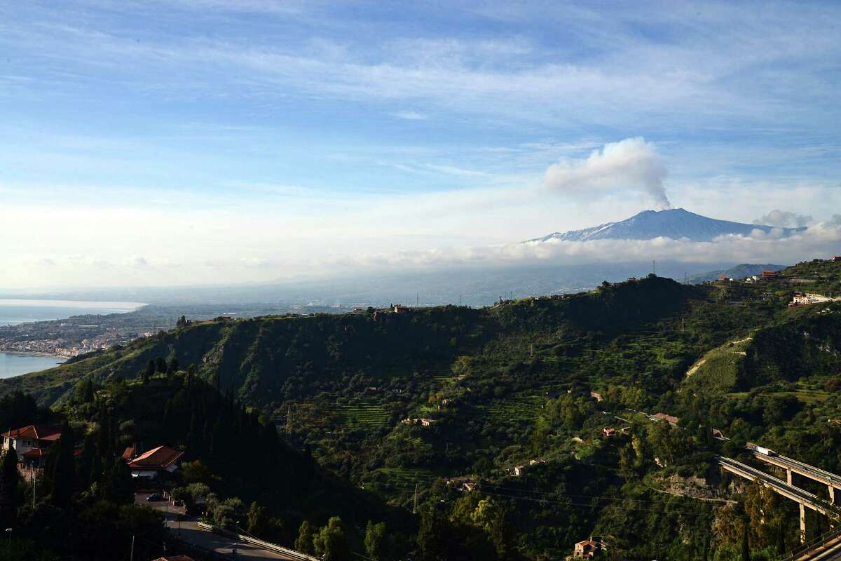
[[[225,557],[230,559],[236,558],[254,561],[282,559],[283,561],[295,561],[294,558],[283,555],[282,553],[274,553],[273,551],[257,548],[248,543],[231,542],[229,537],[202,530],[198,527],[197,520],[183,515],[183,509],[177,509],[172,505],[167,505],[167,502],[163,500],[147,502],[146,497],[148,495],[148,493],[135,494],[135,504],[151,506],[156,511],[161,511],[166,516],[167,528],[169,528],[170,534],[183,542],[188,542],[190,545],[204,549],[205,551],[225,555]],[[233,548],[236,548],[235,557],[232,554]]]

